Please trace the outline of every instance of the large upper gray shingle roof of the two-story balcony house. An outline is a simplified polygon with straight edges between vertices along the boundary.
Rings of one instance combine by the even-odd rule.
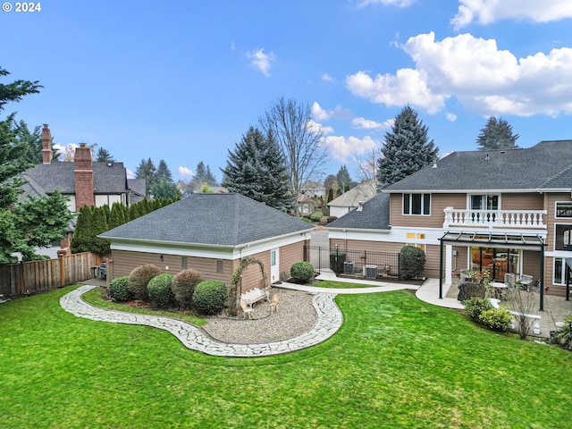
[[[383,190],[569,190],[571,160],[572,140],[541,141],[526,149],[453,152],[437,161],[437,168],[426,167]]]

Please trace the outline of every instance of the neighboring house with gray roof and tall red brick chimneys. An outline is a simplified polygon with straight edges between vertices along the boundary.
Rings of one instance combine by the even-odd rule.
[[[93,162],[91,150],[85,143],[76,148],[73,162],[62,162],[52,159],[52,136],[46,124],[41,141],[42,164],[21,173],[29,182],[23,188],[25,194],[39,197],[60,189],[64,197],[70,198],[71,213],[84,205],[112,206],[120,202],[130,206],[145,197],[145,181],[128,180],[122,163]]]

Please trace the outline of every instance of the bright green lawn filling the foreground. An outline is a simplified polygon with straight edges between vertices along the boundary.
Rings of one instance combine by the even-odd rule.
[[[569,427],[572,353],[484,331],[407,291],[339,296],[289,355],[210,357],[168,332],[0,305],[0,427]]]

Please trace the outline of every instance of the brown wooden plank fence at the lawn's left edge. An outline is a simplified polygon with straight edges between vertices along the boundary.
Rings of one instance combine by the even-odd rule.
[[[0,294],[4,298],[17,298],[82,282],[92,278],[92,267],[104,260],[94,253],[78,253],[45,261],[0,265]]]

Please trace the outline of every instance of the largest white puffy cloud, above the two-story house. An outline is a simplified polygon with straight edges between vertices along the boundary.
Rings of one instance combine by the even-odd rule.
[[[402,49],[415,69],[346,78],[353,94],[373,103],[414,105],[430,114],[456,97],[475,114],[572,114],[572,48],[517,58],[494,39],[460,34],[435,41],[433,32],[409,38]]]

